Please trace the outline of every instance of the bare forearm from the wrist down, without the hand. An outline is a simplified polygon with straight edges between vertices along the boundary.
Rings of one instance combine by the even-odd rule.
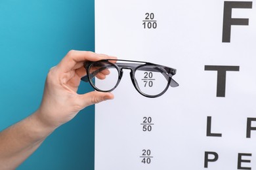
[[[35,113],[2,131],[0,133],[0,169],[18,167],[53,130],[53,127],[45,126]]]

